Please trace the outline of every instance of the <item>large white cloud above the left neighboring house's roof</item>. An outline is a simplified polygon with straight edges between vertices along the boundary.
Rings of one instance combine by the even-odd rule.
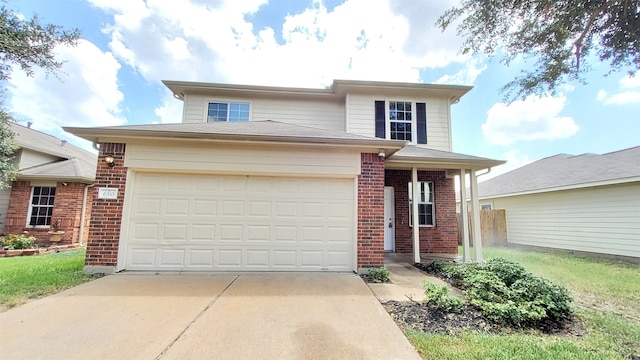
[[[15,71],[9,81],[9,108],[33,128],[66,136],[61,126],[121,125],[123,95],[118,89],[120,64],[110,52],[80,40],[76,47],[58,47],[56,59],[66,61],[59,75],[45,76],[36,70],[33,77]]]

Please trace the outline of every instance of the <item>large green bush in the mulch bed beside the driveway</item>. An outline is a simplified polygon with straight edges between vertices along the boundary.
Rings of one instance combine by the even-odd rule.
[[[444,275],[463,289],[471,304],[502,324],[523,326],[562,321],[571,316],[571,295],[559,285],[497,258],[485,264],[448,266]]]

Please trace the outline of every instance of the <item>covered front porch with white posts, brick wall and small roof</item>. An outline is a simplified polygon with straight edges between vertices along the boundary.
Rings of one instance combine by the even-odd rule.
[[[406,146],[385,161],[384,250],[387,259],[419,263],[458,259],[456,190],[471,193],[470,209],[461,202],[461,260],[483,261],[478,202],[478,172],[504,161]],[[456,188],[455,178],[458,178]],[[417,201],[413,201],[417,199]],[[471,216],[468,215],[468,212]],[[413,224],[419,224],[413,226]],[[471,254],[469,243],[473,244]],[[393,254],[393,255],[391,255]]]

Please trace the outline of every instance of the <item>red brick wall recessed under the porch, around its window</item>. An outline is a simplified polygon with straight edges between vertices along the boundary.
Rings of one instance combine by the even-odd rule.
[[[444,171],[418,171],[418,181],[433,181],[436,226],[420,228],[420,252],[458,254],[458,223],[453,179]],[[387,170],[385,185],[393,186],[396,211],[396,252],[413,252],[413,230],[409,226],[409,170]]]

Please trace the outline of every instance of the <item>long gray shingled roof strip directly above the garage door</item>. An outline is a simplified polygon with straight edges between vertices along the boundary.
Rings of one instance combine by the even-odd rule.
[[[94,128],[65,127],[66,131],[93,142],[100,138],[176,138],[237,141],[304,142],[318,144],[352,144],[401,148],[406,143],[322,130],[277,121],[207,122],[106,126]]]

